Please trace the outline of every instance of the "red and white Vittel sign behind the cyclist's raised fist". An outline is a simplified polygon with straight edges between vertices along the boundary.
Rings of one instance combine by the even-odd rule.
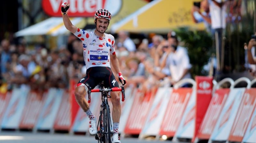
[[[113,16],[122,5],[122,0],[42,0],[42,7],[49,16],[62,16],[60,6],[64,2],[70,4],[69,17],[93,17],[98,9],[108,9]]]

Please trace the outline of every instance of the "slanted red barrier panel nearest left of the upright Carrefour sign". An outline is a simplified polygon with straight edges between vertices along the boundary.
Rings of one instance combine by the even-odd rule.
[[[174,136],[191,94],[192,88],[178,88],[173,90],[159,131],[160,136]]]

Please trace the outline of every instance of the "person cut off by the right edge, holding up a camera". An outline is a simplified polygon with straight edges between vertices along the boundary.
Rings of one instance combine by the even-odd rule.
[[[249,64],[251,64],[251,74],[256,77],[256,33],[251,36],[251,39],[247,45],[247,59]]]

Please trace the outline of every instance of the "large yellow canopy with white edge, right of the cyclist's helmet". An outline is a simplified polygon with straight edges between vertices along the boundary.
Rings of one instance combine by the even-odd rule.
[[[126,19],[125,22],[115,24],[112,27],[113,32],[126,30],[130,32],[167,33],[170,29],[181,26],[204,29],[204,24],[195,24],[192,21],[193,2],[194,0],[156,0],[153,6],[142,7],[129,20]]]

